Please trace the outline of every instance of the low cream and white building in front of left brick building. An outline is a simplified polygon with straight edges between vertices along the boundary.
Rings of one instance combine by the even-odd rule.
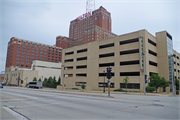
[[[23,85],[26,85],[30,81],[33,81],[34,77],[36,77],[37,80],[41,78],[43,81],[45,78],[53,78],[54,76],[56,80],[61,76],[61,63],[35,60],[31,65],[31,69],[13,66],[6,68],[3,83],[18,85],[18,77],[20,77],[20,80],[24,81]]]

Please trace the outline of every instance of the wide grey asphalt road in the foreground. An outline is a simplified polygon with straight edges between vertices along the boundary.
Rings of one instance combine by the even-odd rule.
[[[78,92],[77,92],[78,93]],[[82,93],[82,92],[81,92]],[[96,93],[93,93],[96,94]],[[100,93],[97,93],[99,95]],[[105,95],[102,93],[102,95]],[[112,94],[116,98],[0,89],[2,120],[179,120],[179,96]]]

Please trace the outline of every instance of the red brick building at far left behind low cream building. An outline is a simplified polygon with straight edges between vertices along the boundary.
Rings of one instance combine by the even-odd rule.
[[[58,63],[61,61],[61,48],[12,37],[8,43],[6,68],[31,68],[33,60]]]

